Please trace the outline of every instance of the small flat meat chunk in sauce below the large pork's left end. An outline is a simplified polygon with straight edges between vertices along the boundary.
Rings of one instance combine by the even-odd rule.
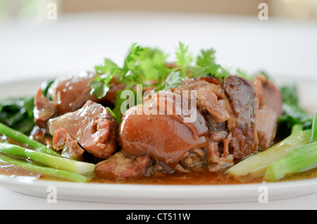
[[[99,178],[130,178],[145,173],[151,165],[147,154],[130,158],[122,151],[104,161],[97,163],[95,174]]]

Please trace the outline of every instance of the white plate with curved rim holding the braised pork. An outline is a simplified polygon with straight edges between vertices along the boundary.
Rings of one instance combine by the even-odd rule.
[[[42,80],[25,80],[0,85],[1,98],[35,92]],[[316,88],[315,90],[316,91]],[[0,175],[0,185],[15,192],[49,197],[55,187],[57,199],[129,204],[201,204],[287,199],[317,192],[317,178],[290,182],[243,185],[126,185],[76,183]]]

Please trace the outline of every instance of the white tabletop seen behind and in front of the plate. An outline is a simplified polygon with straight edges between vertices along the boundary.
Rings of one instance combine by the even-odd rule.
[[[92,70],[103,58],[120,63],[132,42],[174,54],[213,47],[218,62],[248,73],[316,79],[316,21],[175,13],[108,12],[58,16],[30,24],[0,23],[0,82]],[[0,187],[0,209],[317,209],[317,194],[232,204],[106,204],[32,197]]]

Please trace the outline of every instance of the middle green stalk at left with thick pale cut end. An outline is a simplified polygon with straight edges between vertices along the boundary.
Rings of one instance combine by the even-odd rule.
[[[95,165],[93,163],[86,163],[82,161],[75,161],[61,156],[51,156],[39,151],[25,149],[14,144],[0,143],[0,153],[10,156],[22,156],[30,158],[33,161],[42,163],[52,168],[70,171],[72,173],[89,174],[94,171]]]

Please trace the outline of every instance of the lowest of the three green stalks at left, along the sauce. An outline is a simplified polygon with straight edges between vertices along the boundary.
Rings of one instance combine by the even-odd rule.
[[[88,182],[90,178],[80,175],[77,173],[71,173],[66,170],[58,170],[55,168],[49,168],[44,166],[39,166],[35,163],[30,163],[26,161],[20,161],[16,158],[11,158],[9,156],[5,156],[3,154],[0,154],[0,161],[4,161],[6,163],[13,164],[14,166],[18,166],[20,168],[23,168],[25,170],[30,170],[31,172],[35,173],[42,173],[44,175],[49,175],[55,178],[61,178],[63,180],[70,180],[74,182]]]

